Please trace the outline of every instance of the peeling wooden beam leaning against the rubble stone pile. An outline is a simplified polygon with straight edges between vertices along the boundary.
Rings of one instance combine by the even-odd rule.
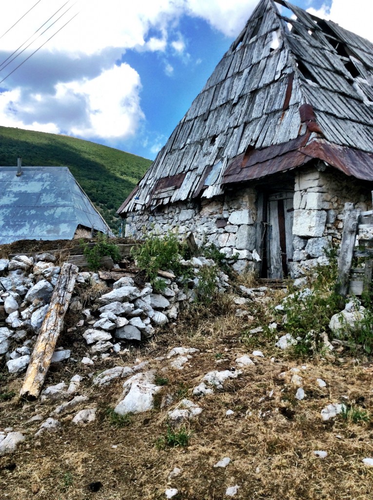
[[[20,390],[22,397],[33,399],[39,395],[63,326],[63,318],[70,302],[77,273],[76,265],[67,262],[61,268]]]

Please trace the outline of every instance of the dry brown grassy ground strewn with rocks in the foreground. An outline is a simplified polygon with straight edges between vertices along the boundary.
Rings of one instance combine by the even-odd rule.
[[[9,377],[1,369],[0,393],[15,394],[0,402],[0,430],[11,426],[27,436],[15,453],[0,458],[1,500],[155,500],[166,498],[168,488],[178,490],[175,499],[218,500],[228,498],[227,487],[235,485],[238,500],[371,499],[373,467],[362,462],[373,457],[370,359],[348,350],[339,354],[343,357],[294,358],[268,339],[248,337],[248,329],[259,320],[255,303],[248,309],[254,320],[237,318],[228,298],[214,307],[192,306],[149,342],[130,345],[128,354],[112,355],[94,367],[61,364],[48,373],[46,384],[83,375],[81,393],[89,396],[84,407],[97,406],[97,418],[84,427],[74,425],[78,407],[60,418],[60,431],[39,438],[34,433],[40,422],[26,422],[35,414],[46,418],[56,404],[20,401],[22,377]],[[86,350],[80,335],[77,330],[60,338],[60,345],[72,349],[72,358],[79,359]],[[167,358],[155,360],[175,346],[200,352],[182,370],[171,368]],[[263,350],[265,357],[252,356],[253,349]],[[244,353],[255,365],[241,368],[223,390],[201,399],[192,395],[204,374],[236,367],[236,358]],[[149,360],[147,369],[155,368],[163,379],[156,408],[114,421],[110,408],[120,400],[123,380],[97,388],[92,372],[131,366],[136,360]],[[293,367],[304,382],[306,398],[301,401],[291,382]],[[320,388],[317,378],[325,380],[326,387]],[[173,402],[161,407],[168,394]],[[203,409],[185,423],[188,444],[162,447],[159,438],[167,433],[167,412],[185,397]],[[356,414],[368,415],[366,421],[338,415],[323,422],[321,410],[341,401],[357,408]],[[226,416],[228,409],[234,414]],[[317,450],[328,456],[317,457]],[[214,467],[223,457],[232,461],[225,468]],[[169,479],[174,467],[181,473]]]

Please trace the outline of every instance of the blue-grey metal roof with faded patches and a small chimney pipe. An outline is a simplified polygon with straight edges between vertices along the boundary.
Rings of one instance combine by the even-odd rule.
[[[72,239],[78,225],[109,226],[66,166],[0,167],[0,244],[18,239]]]

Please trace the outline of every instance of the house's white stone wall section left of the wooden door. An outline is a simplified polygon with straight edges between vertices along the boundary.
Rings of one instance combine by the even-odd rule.
[[[141,238],[144,228],[163,234],[178,226],[180,234],[192,231],[198,245],[213,242],[227,256],[238,254],[233,267],[242,271],[252,260],[256,237],[256,190],[244,188],[200,203],[184,202],[160,206],[153,213],[129,213],[125,235]]]

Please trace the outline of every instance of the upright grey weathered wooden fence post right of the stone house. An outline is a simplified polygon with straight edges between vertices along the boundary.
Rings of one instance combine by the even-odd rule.
[[[354,203],[345,203],[343,211],[343,234],[340,256],[338,259],[337,292],[345,298],[349,288],[350,270],[354,256],[355,240],[358,232],[360,210],[354,208]],[[341,306],[344,301],[341,300]]]

